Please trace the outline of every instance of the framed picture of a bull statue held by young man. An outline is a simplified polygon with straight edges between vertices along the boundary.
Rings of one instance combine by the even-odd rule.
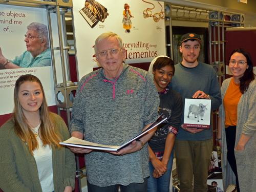
[[[184,127],[210,129],[211,99],[188,99],[184,104]]]

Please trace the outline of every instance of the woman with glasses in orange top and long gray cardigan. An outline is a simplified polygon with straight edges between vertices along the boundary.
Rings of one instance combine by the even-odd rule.
[[[223,153],[224,187],[236,183],[237,191],[255,191],[256,81],[249,53],[233,50],[229,70],[233,76],[221,86],[217,136]]]

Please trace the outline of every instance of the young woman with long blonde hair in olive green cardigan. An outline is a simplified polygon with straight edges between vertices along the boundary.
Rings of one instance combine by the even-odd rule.
[[[72,192],[75,156],[59,142],[66,123],[48,110],[44,89],[33,75],[14,87],[12,117],[0,128],[0,188],[5,192]]]

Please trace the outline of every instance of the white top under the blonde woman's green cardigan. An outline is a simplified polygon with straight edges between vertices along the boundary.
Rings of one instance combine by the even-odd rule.
[[[40,124],[33,129],[37,133]],[[36,166],[38,170],[39,181],[42,187],[42,192],[52,192],[53,187],[53,168],[52,168],[52,149],[49,145],[42,146],[42,141],[39,136],[36,136],[38,148],[33,151]]]

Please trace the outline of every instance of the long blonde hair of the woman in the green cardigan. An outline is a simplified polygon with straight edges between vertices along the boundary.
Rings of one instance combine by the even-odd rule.
[[[38,131],[38,136],[42,140],[42,144],[50,145],[54,147],[60,147],[60,134],[57,133],[57,130],[54,126],[54,120],[50,116],[50,112],[47,106],[46,98],[45,98],[45,92],[42,88],[41,81],[34,75],[22,75],[20,76],[15,83],[14,87],[14,110],[13,110],[13,121],[14,121],[14,130],[17,136],[24,142],[27,143],[27,146],[29,148],[29,151],[31,154],[33,154],[33,151],[38,148],[38,142],[36,140],[36,137],[34,133],[31,130],[31,127],[28,124],[28,120],[26,116],[23,113],[22,105],[20,104],[18,92],[20,85],[22,85],[24,82],[30,81],[30,82],[37,82],[40,85],[43,99],[42,104],[39,109],[40,114],[40,127]]]

